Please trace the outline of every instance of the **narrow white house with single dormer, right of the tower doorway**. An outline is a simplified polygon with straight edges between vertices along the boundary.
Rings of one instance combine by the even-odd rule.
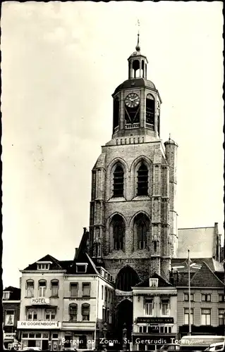
[[[177,291],[170,282],[154,274],[133,287],[133,346],[154,350],[175,341]]]

